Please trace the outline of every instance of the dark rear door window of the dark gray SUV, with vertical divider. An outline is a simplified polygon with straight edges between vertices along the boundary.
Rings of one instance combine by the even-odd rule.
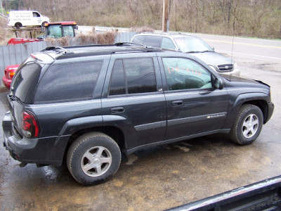
[[[113,65],[109,95],[157,91],[152,58],[127,58]]]

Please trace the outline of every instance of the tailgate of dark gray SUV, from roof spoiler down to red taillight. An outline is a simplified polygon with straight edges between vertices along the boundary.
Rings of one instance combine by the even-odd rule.
[[[32,137],[30,130],[30,123],[37,123],[29,105],[33,104],[34,92],[36,91],[41,70],[47,64],[53,63],[53,58],[46,53],[35,53],[27,58],[25,62],[20,65],[13,81],[11,83],[11,93],[8,95],[8,101],[13,120],[14,133],[20,134],[27,138]],[[27,120],[25,120],[27,118]],[[39,125],[37,125],[39,127]],[[37,131],[37,135],[38,131]]]

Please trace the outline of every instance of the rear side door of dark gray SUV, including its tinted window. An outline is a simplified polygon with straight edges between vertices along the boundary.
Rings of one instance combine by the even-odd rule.
[[[103,89],[105,125],[118,124],[126,149],[163,141],[166,132],[166,101],[155,53],[115,54]],[[109,84],[109,85],[108,85]]]

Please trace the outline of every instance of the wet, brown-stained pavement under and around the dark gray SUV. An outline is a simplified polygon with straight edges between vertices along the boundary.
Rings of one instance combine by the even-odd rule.
[[[211,43],[217,51],[223,39]],[[247,43],[241,46],[268,49]],[[91,187],[77,184],[66,167],[20,168],[0,146],[0,210],[164,210],[280,175],[280,62],[267,58],[274,53],[258,56],[233,53],[243,77],[270,84],[275,103],[272,120],[250,146],[237,146],[221,135],[157,146],[124,157],[112,180]],[[6,94],[0,93],[0,118],[8,109]],[[0,142],[1,136],[0,130]]]

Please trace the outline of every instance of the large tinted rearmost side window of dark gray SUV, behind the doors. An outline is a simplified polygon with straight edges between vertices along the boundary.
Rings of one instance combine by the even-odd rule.
[[[34,103],[91,98],[102,64],[91,61],[51,66],[39,82]]]

